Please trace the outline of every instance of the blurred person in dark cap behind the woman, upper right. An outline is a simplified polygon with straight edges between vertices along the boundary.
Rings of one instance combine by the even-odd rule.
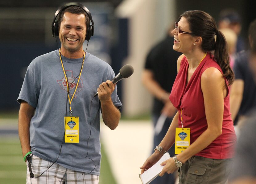
[[[219,14],[219,29],[232,29],[237,35],[236,51],[240,52],[246,49],[245,39],[240,35],[242,30],[241,17],[237,11],[233,9],[224,9]]]

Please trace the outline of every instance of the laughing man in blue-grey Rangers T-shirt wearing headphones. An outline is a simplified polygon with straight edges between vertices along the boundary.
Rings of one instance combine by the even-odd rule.
[[[61,48],[35,58],[27,68],[17,99],[27,183],[99,181],[100,110],[105,125],[114,130],[122,104],[110,81],[112,68],[83,50],[93,33],[85,6],[61,6],[52,22]]]

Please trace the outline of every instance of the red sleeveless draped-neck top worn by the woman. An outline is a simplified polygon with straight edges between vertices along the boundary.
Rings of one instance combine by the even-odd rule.
[[[184,128],[190,128],[190,144],[192,144],[207,129],[204,97],[201,89],[201,76],[209,67],[215,67],[223,74],[221,67],[213,60],[213,55],[208,53],[196,68],[186,85],[188,60],[184,56],[181,60],[180,71],[177,74],[169,97],[172,104],[179,111],[179,127],[181,127],[180,109],[182,109]],[[236,134],[231,119],[229,88],[227,88],[227,96],[224,98],[222,134],[209,146],[197,153],[196,156],[213,159],[232,158],[234,157],[235,143]]]

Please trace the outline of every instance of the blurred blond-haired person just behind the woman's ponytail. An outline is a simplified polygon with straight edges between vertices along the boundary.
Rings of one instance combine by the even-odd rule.
[[[236,58],[236,45],[237,45],[237,35],[236,33],[229,28],[219,29],[221,33],[225,36],[227,46],[228,46],[228,53],[230,58],[230,67],[233,68]]]

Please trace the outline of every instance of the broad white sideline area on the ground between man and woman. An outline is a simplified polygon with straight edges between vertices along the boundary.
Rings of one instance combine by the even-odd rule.
[[[101,142],[117,183],[141,184],[139,167],[152,151],[151,122],[120,121],[115,130],[110,130],[102,123]]]

